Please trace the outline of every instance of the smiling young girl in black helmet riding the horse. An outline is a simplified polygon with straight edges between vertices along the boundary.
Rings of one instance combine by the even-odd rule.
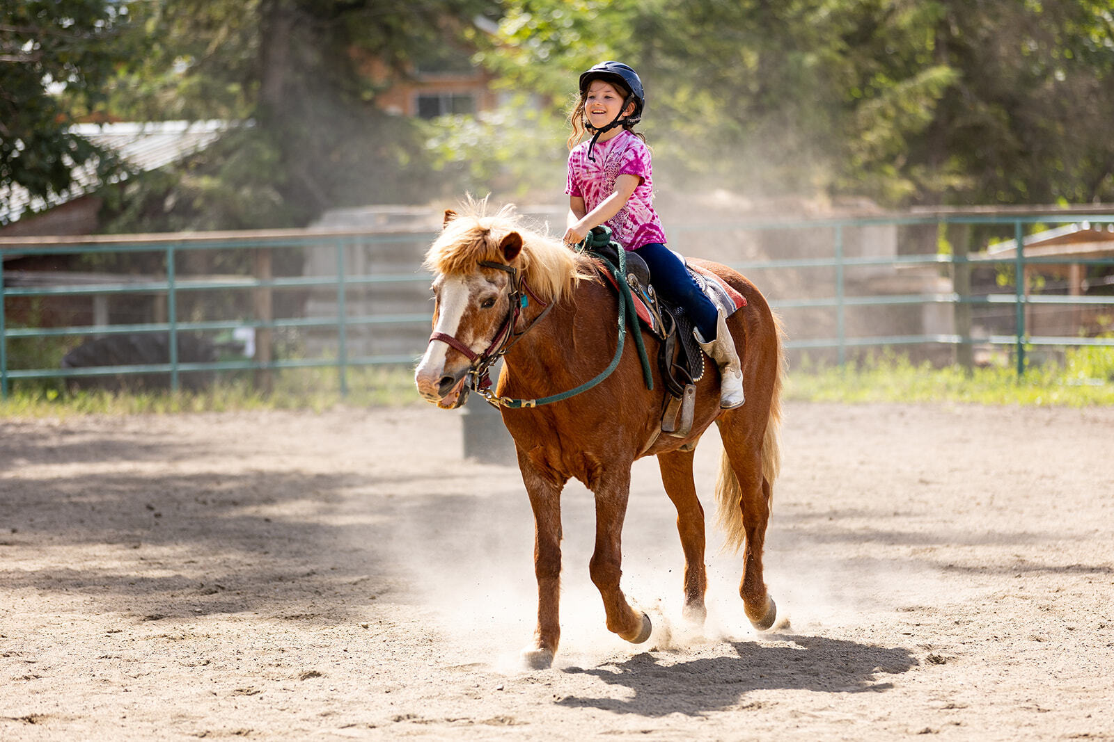
[[[658,296],[688,315],[696,342],[720,367],[720,406],[739,407],[744,402],[743,374],[726,318],[665,247],[665,231],[654,211],[649,148],[634,131],[645,105],[642,80],[626,65],[600,62],[580,76],[580,99],[569,116],[565,243],[582,241],[593,227],[610,227],[612,237],[649,266]],[[580,142],[588,130],[592,140]]]

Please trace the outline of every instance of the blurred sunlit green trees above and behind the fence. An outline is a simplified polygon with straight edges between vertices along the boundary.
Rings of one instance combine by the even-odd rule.
[[[385,112],[430,50],[496,110]],[[106,200],[111,231],[301,226],[466,191],[564,199],[565,116],[596,61],[635,67],[656,187],[886,207],[1114,201],[1108,0],[10,0],[0,187],[113,162],[75,121],[238,121]]]

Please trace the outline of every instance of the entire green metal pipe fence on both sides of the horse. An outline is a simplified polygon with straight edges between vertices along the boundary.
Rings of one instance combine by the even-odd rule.
[[[684,249],[693,255],[701,251],[695,245],[709,241],[722,241],[723,233],[769,233],[781,230],[830,230],[831,255],[797,257],[786,259],[762,260],[723,260],[744,273],[760,271],[802,271],[809,269],[829,269],[832,271],[830,295],[827,296],[772,296],[771,305],[779,310],[824,309],[834,314],[834,334],[832,337],[793,338],[794,328],[790,327],[789,348],[799,349],[834,349],[838,362],[847,363],[848,350],[851,348],[880,346],[1006,346],[1012,349],[1016,362],[1018,377],[1025,373],[1026,349],[1030,347],[1114,347],[1114,338],[1110,337],[1063,337],[1034,336],[1026,328],[1026,307],[1037,305],[1064,305],[1071,307],[1111,306],[1114,310],[1114,296],[1059,296],[1030,295],[1026,291],[1026,267],[1040,265],[1064,265],[1066,263],[1079,266],[1114,267],[1114,257],[1082,258],[1072,257],[1028,257],[1025,254],[1026,228],[1036,225],[1088,222],[1091,225],[1114,226],[1114,215],[1110,214],[1056,214],[1056,215],[934,215],[934,216],[880,216],[854,219],[818,219],[818,220],[770,220],[747,221],[736,224],[678,226],[671,233],[692,249]],[[981,227],[1013,228],[1014,254],[996,257],[988,253],[939,254],[925,253],[913,255],[890,255],[885,257],[849,256],[847,255],[846,236],[849,229],[863,227],[936,227],[937,230],[952,225]],[[1112,227],[1107,227],[1111,229]],[[412,364],[422,353],[424,328],[430,321],[429,311],[401,311],[371,314],[350,314],[353,304],[350,298],[356,293],[370,294],[383,291],[387,287],[405,287],[413,285],[414,291],[424,291],[429,276],[420,266],[420,250],[414,246],[428,245],[436,235],[426,231],[408,233],[338,233],[321,230],[274,230],[256,233],[223,233],[211,235],[160,235],[160,236],[127,236],[127,237],[82,237],[82,238],[27,238],[0,239],[0,255],[8,257],[49,257],[49,256],[118,256],[123,254],[148,253],[162,256],[165,276],[145,277],[133,281],[95,283],[74,286],[13,286],[4,279],[3,260],[0,260],[0,395],[7,397],[10,384],[18,379],[69,378],[88,376],[127,376],[133,374],[166,374],[169,386],[177,389],[180,377],[189,372],[235,372],[255,370],[273,372],[283,368],[332,367],[336,369],[341,393],[348,392],[348,369],[356,366]],[[346,251],[350,249],[372,249],[383,247],[397,250],[399,246],[409,246],[413,259],[405,271],[384,273],[350,273],[346,264]],[[1114,240],[1111,241],[1114,254]],[[177,269],[178,258],[194,250],[256,250],[274,253],[283,249],[299,249],[303,253],[312,250],[332,250],[334,253],[334,270],[323,275],[297,276],[254,276],[243,275],[221,278],[190,278]],[[915,266],[936,266],[941,270],[974,268],[979,266],[1012,267],[1014,287],[1012,291],[986,294],[981,296],[964,295],[957,291],[934,291],[920,294],[876,294],[849,295],[847,291],[847,273],[857,268],[889,267],[902,268]],[[59,274],[61,275],[61,274]],[[762,285],[761,279],[756,283]],[[263,291],[270,301],[275,291],[326,291],[335,303],[335,311],[315,316],[238,316],[235,318],[189,320],[180,318],[179,305],[184,297],[195,291]],[[817,291],[820,293],[820,287]],[[827,294],[827,291],[824,291]],[[124,296],[124,295],[157,295],[166,297],[165,321],[145,321],[108,325],[75,325],[63,327],[14,327],[8,319],[9,306],[20,298],[50,298],[60,296]],[[256,294],[258,295],[258,294]],[[853,307],[901,307],[927,305],[970,305],[1001,306],[1014,308],[1014,329],[1012,333],[991,333],[980,337],[971,337],[969,333],[935,333],[912,335],[882,336],[849,336],[847,326],[848,309]],[[266,313],[270,315],[270,313]],[[356,355],[352,353],[352,332],[367,328],[398,328],[412,326],[414,344],[412,349],[403,353]],[[335,357],[286,357],[272,358],[270,353],[262,357],[225,359],[207,363],[187,363],[179,358],[178,338],[183,333],[218,333],[236,328],[252,328],[265,333],[268,337],[272,330],[322,332],[328,342],[335,339]],[[84,368],[12,368],[10,340],[28,338],[108,336],[113,334],[165,334],[168,338],[168,358],[166,363],[133,364],[114,366],[94,366]]]

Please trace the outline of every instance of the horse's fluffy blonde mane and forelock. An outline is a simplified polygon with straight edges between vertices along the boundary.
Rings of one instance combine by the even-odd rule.
[[[559,301],[577,281],[595,277],[588,258],[530,228],[512,204],[490,212],[486,198],[468,198],[461,205],[430,246],[424,267],[451,276],[477,270],[480,260],[504,261],[499,246],[511,233],[522,238],[522,249],[511,265],[521,269],[530,290],[543,301]]]

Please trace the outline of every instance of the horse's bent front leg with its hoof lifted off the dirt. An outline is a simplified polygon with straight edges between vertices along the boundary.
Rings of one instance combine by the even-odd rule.
[[[631,467],[619,474],[600,477],[596,494],[596,548],[588,568],[592,582],[599,588],[607,613],[607,630],[634,644],[649,639],[649,616],[627,603],[619,590],[623,575],[623,520],[631,493]]]

